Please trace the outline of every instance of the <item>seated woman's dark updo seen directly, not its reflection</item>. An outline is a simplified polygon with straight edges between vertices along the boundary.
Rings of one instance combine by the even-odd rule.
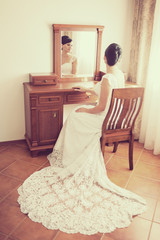
[[[122,54],[122,49],[118,44],[116,43],[110,44],[105,51],[107,64],[109,66],[115,65],[118,62],[118,59],[121,56],[121,54]]]

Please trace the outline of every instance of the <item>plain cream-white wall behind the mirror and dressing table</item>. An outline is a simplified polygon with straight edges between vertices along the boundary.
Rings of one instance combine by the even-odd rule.
[[[0,0],[0,141],[24,139],[23,82],[52,71],[52,24],[104,25],[102,52],[119,43],[127,71],[132,17],[133,0]]]

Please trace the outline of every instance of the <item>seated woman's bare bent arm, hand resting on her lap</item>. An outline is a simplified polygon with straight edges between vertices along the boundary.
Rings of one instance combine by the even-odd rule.
[[[109,92],[110,92],[110,85],[108,83],[108,79],[103,79],[98,105],[95,106],[94,108],[90,108],[90,109],[79,108],[76,110],[76,112],[87,112],[87,113],[91,113],[91,114],[103,112],[106,108]]]

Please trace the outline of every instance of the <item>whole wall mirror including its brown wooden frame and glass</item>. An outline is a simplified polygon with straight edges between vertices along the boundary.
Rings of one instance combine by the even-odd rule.
[[[53,71],[59,80],[100,80],[103,26],[53,24]]]

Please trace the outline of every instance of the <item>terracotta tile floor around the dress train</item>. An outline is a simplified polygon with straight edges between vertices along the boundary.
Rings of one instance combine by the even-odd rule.
[[[115,184],[147,200],[148,209],[133,218],[128,228],[112,233],[67,234],[48,230],[22,214],[17,203],[17,188],[34,171],[48,166],[41,153],[32,158],[25,141],[0,143],[0,240],[159,240],[160,239],[160,155],[134,143],[134,169],[128,169],[128,144],[121,143],[116,153],[106,147],[108,177]]]

